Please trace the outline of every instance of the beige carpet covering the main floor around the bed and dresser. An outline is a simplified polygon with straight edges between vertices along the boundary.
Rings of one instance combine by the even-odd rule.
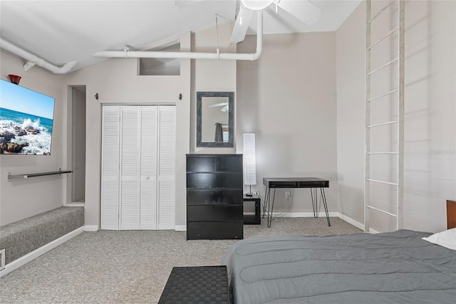
[[[362,232],[339,218],[276,218],[256,236]],[[181,231],[84,232],[0,278],[0,303],[157,303],[175,266],[220,265],[235,240],[187,241]]]

